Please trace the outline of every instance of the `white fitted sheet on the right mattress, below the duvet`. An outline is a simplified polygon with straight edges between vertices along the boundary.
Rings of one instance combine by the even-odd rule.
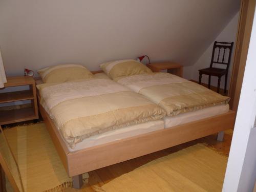
[[[228,104],[221,104],[217,106],[211,106],[202,110],[197,110],[193,112],[183,113],[176,116],[166,116],[164,117],[164,128],[181,125],[184,123],[204,119],[207,117],[212,117],[215,115],[221,115],[229,111]]]

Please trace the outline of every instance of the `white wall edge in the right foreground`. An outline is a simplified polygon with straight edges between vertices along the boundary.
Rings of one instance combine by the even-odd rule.
[[[256,14],[223,191],[252,191],[256,180]],[[254,128],[253,128],[254,127]]]

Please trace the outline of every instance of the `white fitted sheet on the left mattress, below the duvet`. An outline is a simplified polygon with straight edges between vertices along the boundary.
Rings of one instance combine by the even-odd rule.
[[[65,143],[70,152],[75,152],[83,148],[88,148],[91,146],[96,146],[96,145],[108,143],[111,141],[116,141],[116,140],[133,137],[136,135],[141,135],[141,134],[162,130],[162,129],[164,129],[163,120],[149,121],[149,122],[140,123],[132,126],[126,126],[121,129],[105,132],[99,135],[91,136],[87,139],[84,139],[82,142],[77,143],[75,148],[73,149],[70,148],[66,142]],[[65,139],[63,140],[65,141]]]

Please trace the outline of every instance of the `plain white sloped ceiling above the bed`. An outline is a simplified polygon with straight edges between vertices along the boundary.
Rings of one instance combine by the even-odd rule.
[[[58,63],[90,70],[147,54],[193,65],[238,12],[239,0],[0,0],[8,75]]]

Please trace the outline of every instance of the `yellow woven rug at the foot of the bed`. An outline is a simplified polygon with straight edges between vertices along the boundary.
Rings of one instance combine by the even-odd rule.
[[[97,191],[221,191],[227,157],[197,144],[124,174]]]

